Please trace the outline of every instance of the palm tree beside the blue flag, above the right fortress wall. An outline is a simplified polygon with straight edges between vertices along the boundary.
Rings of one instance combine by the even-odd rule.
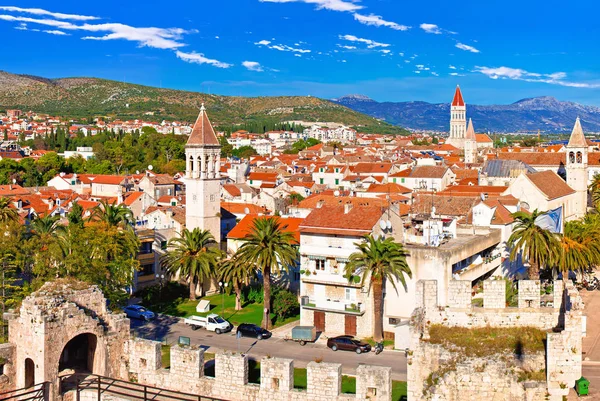
[[[530,279],[539,278],[540,269],[547,263],[552,264],[558,256],[557,236],[535,224],[545,213],[535,209],[532,213],[519,211],[512,214],[516,224],[508,238],[510,260],[516,260],[520,254],[523,261],[528,261]]]

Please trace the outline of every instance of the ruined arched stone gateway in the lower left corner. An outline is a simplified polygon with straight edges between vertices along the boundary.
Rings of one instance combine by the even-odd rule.
[[[57,395],[60,372],[127,378],[129,320],[111,313],[95,286],[74,280],[46,283],[8,319],[16,388],[47,381]]]

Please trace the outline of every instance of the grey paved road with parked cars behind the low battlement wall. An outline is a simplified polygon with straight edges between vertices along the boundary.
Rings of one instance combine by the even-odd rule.
[[[167,343],[176,343],[179,336],[189,337],[193,345],[198,345],[210,352],[232,350],[246,353],[254,358],[272,356],[294,359],[294,366],[305,367],[308,362],[322,359],[323,362],[342,364],[342,371],[355,374],[359,363],[392,368],[392,379],[406,380],[406,357],[403,352],[385,350],[379,355],[374,352],[357,355],[348,351],[333,352],[323,344],[307,344],[304,347],[282,338],[269,338],[257,341],[251,338],[237,339],[234,331],[226,334],[215,334],[203,329],[192,330],[179,322],[177,318],[160,315],[152,322],[131,320],[131,328],[139,337],[150,340],[166,339]]]

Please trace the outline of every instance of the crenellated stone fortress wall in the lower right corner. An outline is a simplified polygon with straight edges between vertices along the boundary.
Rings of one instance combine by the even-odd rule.
[[[417,308],[411,321],[408,399],[562,400],[581,377],[583,302],[570,281],[554,281],[552,307],[540,306],[539,280],[518,283],[518,307],[506,307],[504,280],[484,282],[483,307],[471,305],[471,282],[451,281],[448,305],[438,304],[437,281],[417,283]],[[432,324],[465,328],[535,327],[546,334],[546,352],[532,355],[457,357],[427,342]],[[543,372],[528,380],[518,372]]]

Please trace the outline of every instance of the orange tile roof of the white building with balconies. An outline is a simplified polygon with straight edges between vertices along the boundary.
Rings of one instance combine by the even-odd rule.
[[[383,215],[377,206],[353,206],[344,213],[344,205],[314,209],[300,225],[300,232],[362,236],[369,234]]]

